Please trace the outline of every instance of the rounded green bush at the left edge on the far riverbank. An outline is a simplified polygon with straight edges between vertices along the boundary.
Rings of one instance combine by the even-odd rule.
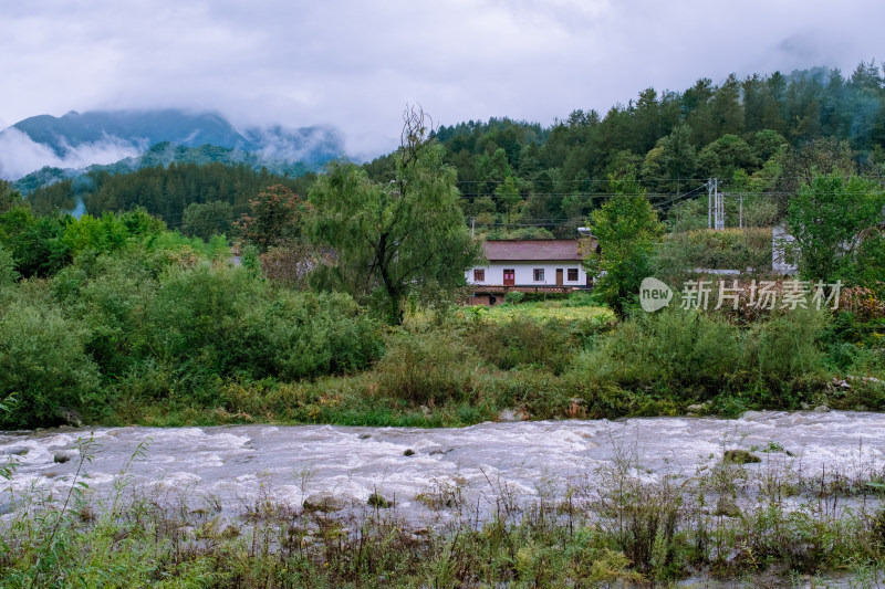
[[[59,423],[62,407],[92,411],[98,370],[84,327],[39,302],[12,302],[0,313],[0,398],[17,393],[0,427]]]

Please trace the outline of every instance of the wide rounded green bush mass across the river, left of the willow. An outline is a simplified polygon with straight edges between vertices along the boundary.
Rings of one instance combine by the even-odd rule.
[[[185,371],[195,390],[216,377],[285,380],[364,368],[374,326],[346,295],[274,291],[242,269],[173,271],[147,302],[136,353]]]

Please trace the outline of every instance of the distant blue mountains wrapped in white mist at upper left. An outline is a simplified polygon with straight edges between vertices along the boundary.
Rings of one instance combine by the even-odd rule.
[[[165,157],[153,151],[158,145]],[[178,157],[189,161],[187,149],[211,148],[220,151],[210,161],[260,164],[290,171],[287,164],[301,162],[305,169],[315,169],[340,157],[344,138],[327,126],[237,129],[219,114],[177,109],[40,115],[0,132],[0,177],[19,179],[41,170],[44,179],[58,179],[92,165],[119,164],[124,171],[179,161]],[[191,155],[197,159],[205,156]],[[34,180],[32,177],[25,183]]]

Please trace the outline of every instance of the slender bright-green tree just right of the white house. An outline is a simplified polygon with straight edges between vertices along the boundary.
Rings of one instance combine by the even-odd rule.
[[[611,178],[613,197],[591,213],[591,231],[598,252],[584,267],[597,278],[596,293],[624,317],[638,299],[639,284],[649,275],[649,259],[664,225],[633,176]]]

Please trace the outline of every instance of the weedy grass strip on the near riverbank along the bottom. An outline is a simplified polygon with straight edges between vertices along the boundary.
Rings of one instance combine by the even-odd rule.
[[[809,575],[881,582],[885,469],[858,451],[802,473],[767,450],[777,455],[736,463],[725,460],[723,441],[695,472],[653,473],[634,450],[618,449],[564,494],[528,503],[490,478],[483,507],[466,502],[457,480],[438,482],[410,497],[429,514],[419,520],[377,493],[317,509],[279,498],[270,483],[225,507],[136,483],[125,467],[100,493],[84,477],[85,443],[70,493],[37,486],[11,497],[0,578],[15,588],[597,587]]]

